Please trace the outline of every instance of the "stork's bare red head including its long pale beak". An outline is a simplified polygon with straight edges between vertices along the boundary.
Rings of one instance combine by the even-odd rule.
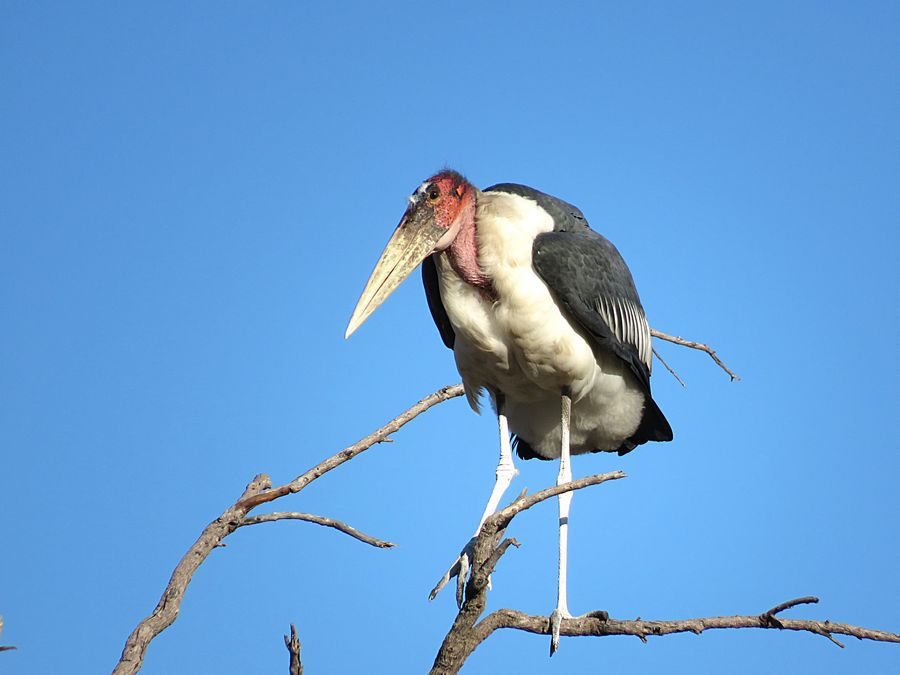
[[[344,337],[350,337],[419,263],[453,243],[460,228],[474,219],[475,192],[469,181],[448,169],[410,195],[406,213],[369,276]]]

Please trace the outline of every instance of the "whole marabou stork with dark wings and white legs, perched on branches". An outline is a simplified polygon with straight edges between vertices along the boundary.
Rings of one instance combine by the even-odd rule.
[[[469,405],[478,412],[487,391],[499,421],[497,478],[476,535],[517,473],[513,448],[522,459],[558,457],[561,484],[572,479],[570,453],[622,455],[647,441],[672,440],[650,396],[650,328],[631,273],[577,208],[524,185],[479,190],[459,173],[441,171],[410,196],[346,336],[420,263],[428,307],[453,350]],[[571,616],[571,499],[571,492],[559,496],[551,654],[561,620]],[[436,591],[453,576],[465,578],[473,543]]]

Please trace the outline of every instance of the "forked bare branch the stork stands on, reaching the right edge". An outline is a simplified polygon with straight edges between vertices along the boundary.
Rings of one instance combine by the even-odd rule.
[[[531,497],[524,495],[516,499],[505,509],[498,511],[485,521],[484,527],[475,543],[475,555],[472,573],[465,588],[465,601],[460,608],[450,631],[444,638],[440,650],[434,660],[431,675],[448,675],[456,673],[473,651],[499,628],[515,628],[530,633],[550,635],[550,618],[532,616],[513,609],[500,609],[478,621],[487,603],[487,579],[494,571],[500,557],[510,545],[518,546],[514,539],[497,542],[509,526],[512,519],[525,509],[539,501],[561,492],[579,489],[589,485],[622,478],[622,472],[589,476],[571,483],[566,483],[546,490],[541,490]],[[887,631],[861,628],[830,621],[814,621],[808,619],[782,619],[775,615],[801,604],[817,603],[818,598],[804,596],[788,600],[758,615],[719,616],[700,619],[682,619],[677,621],[643,621],[610,619],[606,612],[590,612],[584,616],[563,619],[560,626],[561,635],[569,636],[607,636],[633,635],[643,642],[649,636],[671,635],[673,633],[696,633],[705,630],[724,628],[769,628],[780,630],[805,631],[821,635],[836,645],[843,647],[834,635],[851,635],[860,640],[876,640],[880,642],[900,642],[900,635]]]

